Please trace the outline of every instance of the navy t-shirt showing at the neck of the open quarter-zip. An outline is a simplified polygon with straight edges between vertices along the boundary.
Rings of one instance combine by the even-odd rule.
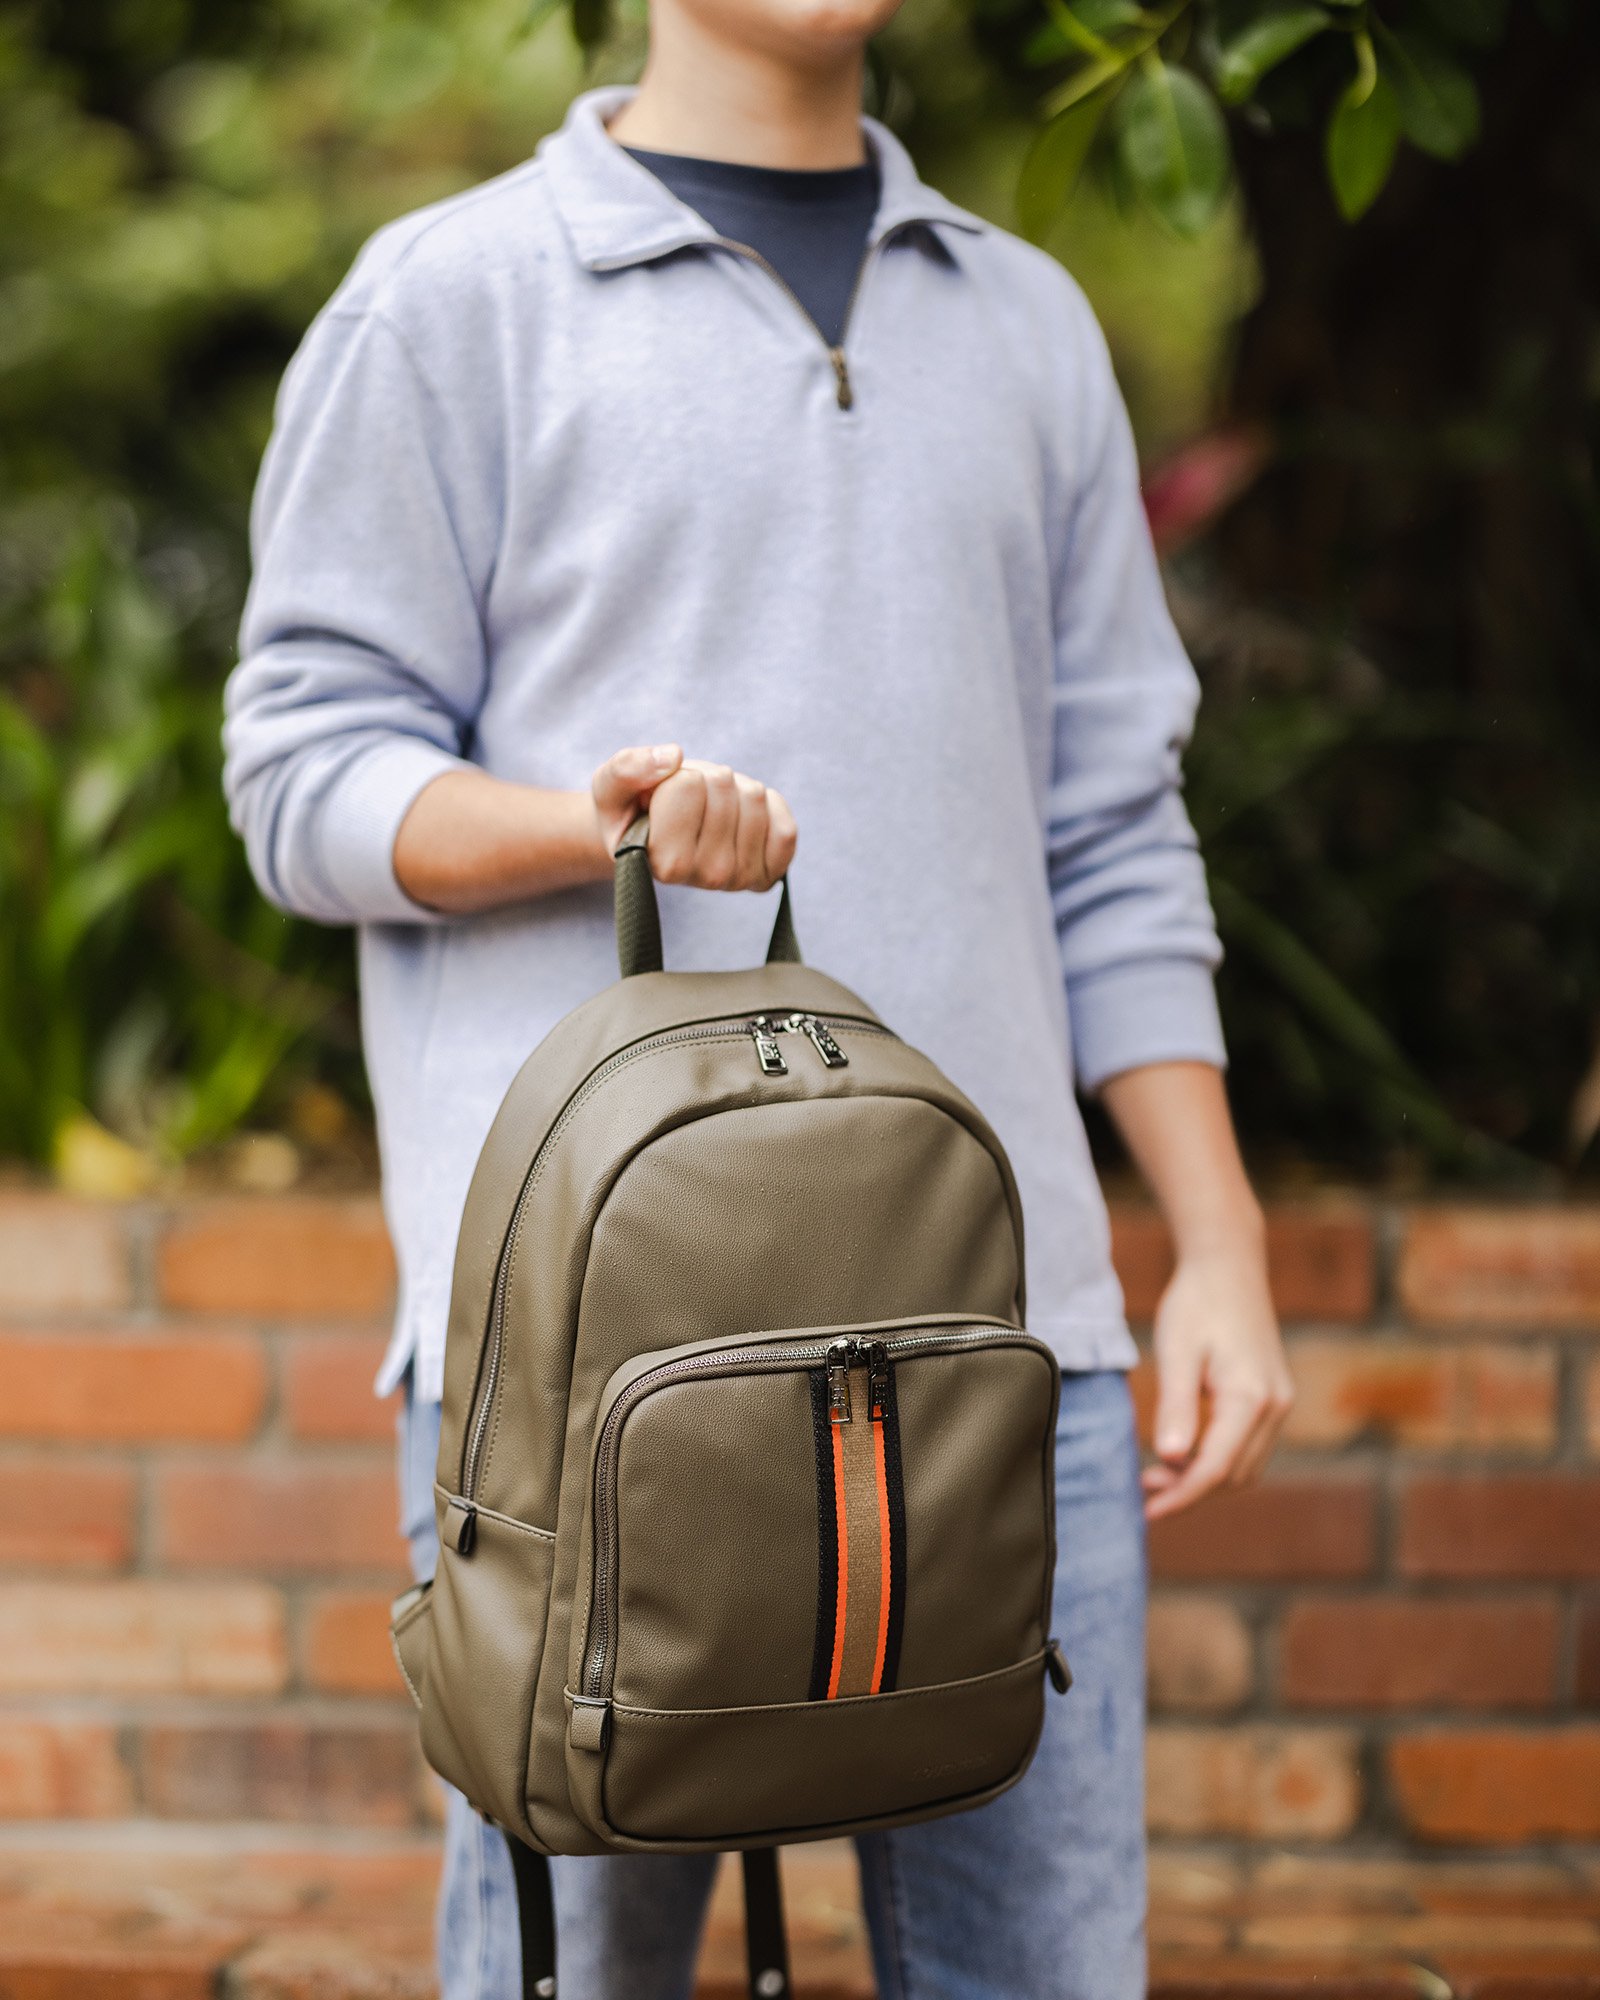
[[[718,236],[760,252],[816,320],[828,346],[840,346],[878,212],[876,160],[812,170],[626,150]]]

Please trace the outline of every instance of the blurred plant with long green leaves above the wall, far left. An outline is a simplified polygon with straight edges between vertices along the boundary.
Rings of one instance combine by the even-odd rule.
[[[94,1126],[188,1152],[232,1130],[296,1038],[348,1052],[354,1036],[340,992],[296,970],[312,940],[248,888],[214,696],[194,698],[186,634],[118,546],[126,526],[72,530],[18,620],[48,664],[0,690],[0,1150],[132,1192]]]

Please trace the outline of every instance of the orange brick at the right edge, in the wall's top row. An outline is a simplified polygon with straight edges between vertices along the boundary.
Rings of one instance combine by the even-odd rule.
[[[1406,1218],[1400,1302],[1438,1326],[1600,1324],[1600,1208],[1424,1208]]]

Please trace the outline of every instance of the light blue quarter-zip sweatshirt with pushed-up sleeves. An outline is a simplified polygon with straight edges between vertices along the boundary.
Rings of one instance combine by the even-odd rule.
[[[266,894],[360,926],[400,1262],[380,1382],[414,1360],[440,1394],[488,1124],[616,978],[608,888],[444,920],[394,878],[400,820],[464,762],[582,788],[644,742],[788,796],[808,960],[994,1122],[1032,1328],[1126,1366],[1074,1074],[1220,1064],[1222,1034],[1180,798],[1196,682],[1104,340],[1056,262],[868,122],[882,204],[830,356],[608,138],[624,96],[368,244],[256,494],[226,784]],[[682,888],[662,916],[682,968],[750,964],[770,924]]]

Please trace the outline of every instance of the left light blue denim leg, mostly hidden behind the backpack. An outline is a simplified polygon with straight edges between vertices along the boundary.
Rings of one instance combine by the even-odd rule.
[[[412,1574],[438,1566],[434,1464],[440,1406],[400,1408],[400,1530]],[[516,1882],[506,1840],[444,1786],[438,1894],[440,2000],[522,2000]],[[714,1854],[560,1858],[554,1864],[562,2000],[688,2000]]]

